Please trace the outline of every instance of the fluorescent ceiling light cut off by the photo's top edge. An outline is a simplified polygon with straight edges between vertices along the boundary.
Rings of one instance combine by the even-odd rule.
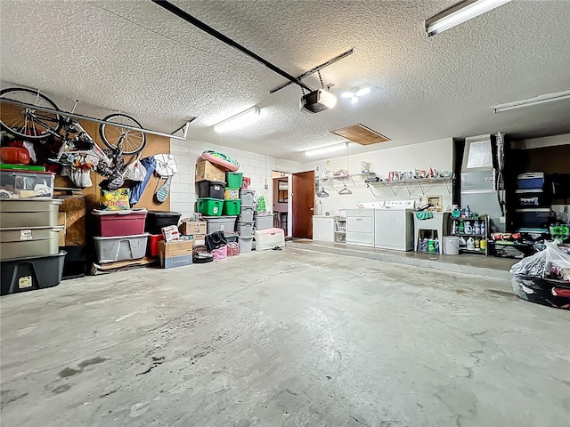
[[[510,0],[466,0],[460,4],[455,4],[444,12],[437,13],[436,16],[426,20],[428,36],[436,36],[436,34],[509,2]]]

